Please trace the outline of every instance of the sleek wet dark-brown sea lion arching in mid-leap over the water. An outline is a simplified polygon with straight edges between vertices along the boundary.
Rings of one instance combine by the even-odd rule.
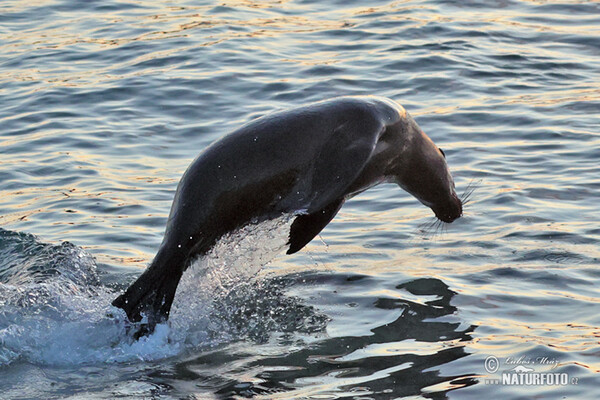
[[[132,322],[146,315],[152,332],[168,319],[189,263],[225,233],[292,214],[292,254],[347,199],[381,182],[397,183],[441,221],[462,215],[443,151],[390,99],[340,97],[255,119],[191,163],[156,257],[112,304]]]

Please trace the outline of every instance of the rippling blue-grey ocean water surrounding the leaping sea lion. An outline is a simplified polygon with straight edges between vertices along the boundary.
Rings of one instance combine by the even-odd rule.
[[[110,302],[190,161],[365,94],[475,187],[464,217],[381,185],[294,256],[248,226],[131,340]],[[0,398],[597,399],[599,163],[597,1],[4,0]]]

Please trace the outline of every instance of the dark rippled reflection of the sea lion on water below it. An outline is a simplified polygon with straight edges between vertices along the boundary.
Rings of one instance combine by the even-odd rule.
[[[319,283],[343,290],[344,286],[360,283],[361,276],[337,276],[335,282],[327,282],[331,280],[325,277]],[[386,310],[386,314],[397,311],[394,314],[399,316],[370,329],[367,335],[325,337],[307,348],[295,349],[294,335],[278,329],[282,334],[275,343],[225,347],[194,357],[178,364],[176,375],[169,379],[188,376],[195,382],[208,383],[210,388],[215,384],[211,379],[214,371],[228,371],[219,380],[218,393],[225,398],[235,395],[300,398],[317,394],[343,397],[373,393],[395,398],[416,395],[432,386],[444,386],[441,392],[445,392],[475,384],[473,374],[442,376],[437,369],[467,355],[463,342],[472,339],[475,328],[443,320],[442,317],[456,311],[450,305],[455,293],[442,281],[425,278],[397,285],[396,289],[431,300],[420,303],[401,297],[373,298],[375,309]],[[269,312],[262,306],[260,312]],[[285,312],[301,315],[291,307],[286,308]],[[368,307],[365,308],[355,305],[350,312],[368,314]],[[283,346],[288,351],[280,354],[278,350],[273,355],[274,347]]]

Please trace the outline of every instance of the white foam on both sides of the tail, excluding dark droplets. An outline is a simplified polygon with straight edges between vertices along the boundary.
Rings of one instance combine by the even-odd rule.
[[[93,258],[70,245],[69,262],[51,266],[57,274],[0,283],[0,366],[18,359],[50,365],[150,361],[232,340],[234,330],[213,318],[214,301],[281,252],[291,220],[250,224],[222,238],[183,275],[169,323],[137,341],[127,334],[124,312],[111,305],[117,293],[97,284]]]

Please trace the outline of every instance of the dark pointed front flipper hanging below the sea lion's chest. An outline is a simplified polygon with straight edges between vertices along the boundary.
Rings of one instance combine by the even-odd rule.
[[[308,244],[335,217],[342,208],[344,199],[336,200],[327,207],[312,214],[299,215],[290,228],[290,248],[287,254],[294,254]]]

